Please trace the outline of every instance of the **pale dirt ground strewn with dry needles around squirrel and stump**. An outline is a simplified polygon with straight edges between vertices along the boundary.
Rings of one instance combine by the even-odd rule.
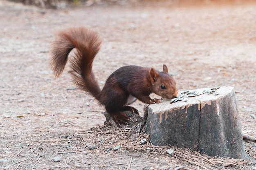
[[[178,90],[234,86],[243,132],[256,136],[255,9],[255,2],[243,0],[133,1],[60,10],[0,0],[0,169],[256,169],[252,141],[245,141],[248,161],[140,146],[141,134],[100,130],[104,108],[76,90],[68,69],[54,79],[48,53],[57,31],[89,27],[103,39],[93,66],[101,87],[121,66],[161,70],[166,64]],[[144,104],[132,106],[142,115]]]

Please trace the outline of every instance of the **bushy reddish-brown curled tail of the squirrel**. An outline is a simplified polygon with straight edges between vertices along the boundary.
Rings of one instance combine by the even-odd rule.
[[[99,52],[101,40],[97,32],[84,27],[71,28],[58,33],[52,44],[51,66],[55,77],[63,72],[70,51],[76,49],[70,57],[70,74],[74,84],[99,100],[101,89],[92,71],[92,62]]]

